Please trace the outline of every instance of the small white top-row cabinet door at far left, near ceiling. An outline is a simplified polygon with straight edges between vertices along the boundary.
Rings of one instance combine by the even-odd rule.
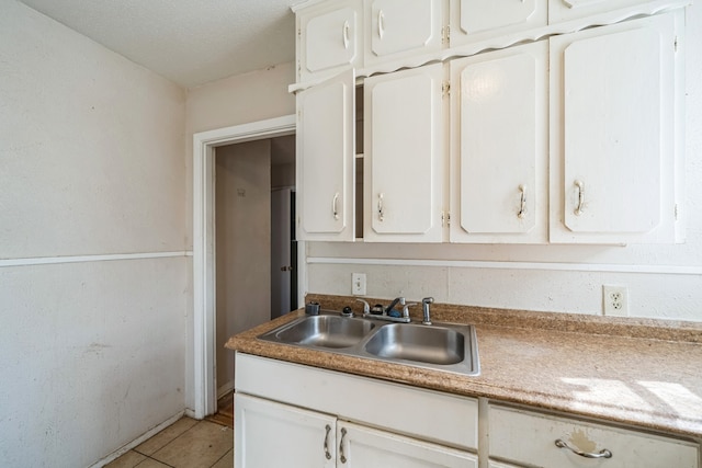
[[[298,81],[331,77],[360,66],[361,8],[361,0],[343,0],[296,11]]]

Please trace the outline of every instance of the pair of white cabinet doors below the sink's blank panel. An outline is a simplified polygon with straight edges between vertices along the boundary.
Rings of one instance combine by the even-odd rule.
[[[477,468],[477,456],[237,393],[235,466]]]

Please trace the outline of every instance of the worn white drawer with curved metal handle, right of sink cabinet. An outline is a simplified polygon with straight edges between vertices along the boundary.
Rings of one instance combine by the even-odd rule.
[[[699,468],[699,445],[604,424],[489,407],[490,457],[544,468]],[[558,447],[556,441],[567,446]],[[570,447],[570,448],[568,448]],[[610,458],[591,459],[574,450]]]

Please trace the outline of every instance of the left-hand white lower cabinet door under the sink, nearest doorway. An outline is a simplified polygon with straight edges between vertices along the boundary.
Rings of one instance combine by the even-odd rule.
[[[235,467],[336,467],[336,419],[235,395]]]

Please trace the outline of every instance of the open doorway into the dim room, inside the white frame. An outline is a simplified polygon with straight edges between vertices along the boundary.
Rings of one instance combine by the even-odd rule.
[[[294,191],[294,135],[215,148],[218,399],[234,389],[234,353],[225,349],[229,336],[296,308]]]

